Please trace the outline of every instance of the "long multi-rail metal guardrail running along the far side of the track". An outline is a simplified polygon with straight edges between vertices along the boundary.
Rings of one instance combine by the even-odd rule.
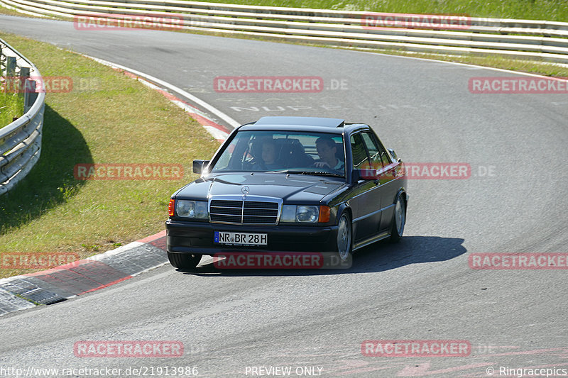
[[[432,22],[430,26],[408,28],[398,26],[408,26],[408,20],[426,15],[182,0],[0,0],[0,4],[35,16],[73,18],[76,27],[87,30],[111,22],[143,23],[144,28],[184,28],[357,48],[501,55],[568,63],[568,23],[562,22],[454,16],[466,18],[466,27],[444,27]],[[435,21],[444,16],[426,17]],[[378,23],[373,21],[396,27],[376,26]]]

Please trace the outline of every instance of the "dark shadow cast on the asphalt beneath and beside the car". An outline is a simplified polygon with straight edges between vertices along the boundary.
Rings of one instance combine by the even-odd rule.
[[[464,239],[438,236],[405,236],[397,244],[382,241],[356,251],[353,265],[348,269],[219,269],[211,262],[192,271],[178,269],[178,272],[204,277],[310,276],[383,272],[422,262],[452,260],[467,252],[463,243]]]

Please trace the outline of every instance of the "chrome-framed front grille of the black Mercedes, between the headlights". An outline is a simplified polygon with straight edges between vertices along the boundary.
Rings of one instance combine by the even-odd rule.
[[[272,201],[271,199],[267,201],[211,199],[209,219],[214,223],[275,225],[278,222],[279,210],[280,203],[276,199]]]

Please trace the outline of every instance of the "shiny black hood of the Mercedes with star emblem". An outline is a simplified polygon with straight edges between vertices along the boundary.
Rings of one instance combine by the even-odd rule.
[[[180,189],[176,198],[207,199],[209,196],[243,194],[243,187],[249,187],[250,196],[281,198],[285,202],[298,204],[320,202],[329,193],[344,186],[341,179],[309,176],[303,174],[279,173],[231,173],[209,174]]]

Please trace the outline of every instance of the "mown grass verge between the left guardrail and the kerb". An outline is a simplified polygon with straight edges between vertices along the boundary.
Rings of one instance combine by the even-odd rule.
[[[218,147],[197,122],[158,92],[78,54],[0,33],[44,77],[71,77],[48,93],[41,157],[0,196],[2,252],[79,252],[81,257],[157,233],[170,194],[195,179],[194,158]],[[78,163],[181,164],[181,180],[77,180]],[[0,277],[21,271],[0,269]]]

